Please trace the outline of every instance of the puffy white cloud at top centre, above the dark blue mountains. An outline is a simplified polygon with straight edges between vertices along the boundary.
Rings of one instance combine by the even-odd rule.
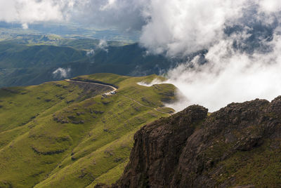
[[[226,20],[240,17],[244,0],[151,1],[141,43],[155,53],[192,53],[223,36]]]

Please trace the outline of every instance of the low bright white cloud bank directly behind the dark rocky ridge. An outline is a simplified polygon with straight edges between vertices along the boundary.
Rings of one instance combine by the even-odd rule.
[[[200,104],[214,112],[230,102],[281,95],[280,43],[281,36],[275,36],[271,53],[248,55],[233,51],[231,40],[221,41],[209,49],[207,64],[199,65],[195,58],[192,67],[188,63],[170,70],[168,83],[185,96],[179,109]]]

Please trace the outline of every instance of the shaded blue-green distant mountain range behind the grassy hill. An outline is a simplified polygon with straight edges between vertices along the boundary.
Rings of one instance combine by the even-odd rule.
[[[138,43],[18,35],[13,40],[0,41],[0,87],[27,86],[98,72],[163,74],[178,62],[181,60],[177,58],[148,54]],[[54,75],[58,68],[69,71],[67,75]]]

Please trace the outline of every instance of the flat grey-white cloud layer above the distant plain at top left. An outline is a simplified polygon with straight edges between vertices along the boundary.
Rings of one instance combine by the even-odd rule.
[[[149,0],[0,0],[0,21],[77,22],[130,32],[145,24],[143,4]]]

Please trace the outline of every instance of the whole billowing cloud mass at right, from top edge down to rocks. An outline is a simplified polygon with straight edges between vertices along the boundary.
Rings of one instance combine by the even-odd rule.
[[[171,57],[208,49],[206,64],[197,56],[168,72],[181,98],[169,106],[200,104],[213,112],[230,102],[281,95],[280,11],[273,0],[151,1],[143,46]]]

